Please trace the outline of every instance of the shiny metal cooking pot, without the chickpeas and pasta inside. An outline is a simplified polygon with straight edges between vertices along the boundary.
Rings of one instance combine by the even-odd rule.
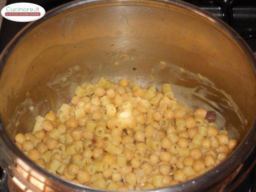
[[[122,60],[122,53],[135,61]],[[165,68],[159,65],[161,60],[167,63]],[[114,66],[116,61],[119,66]],[[36,114],[69,102],[75,85],[100,76],[133,77],[144,86],[170,82],[203,87],[215,94],[206,97],[218,104],[215,110],[226,117],[225,126],[233,136],[240,135],[238,148],[214,169],[155,191],[223,190],[254,149],[254,55],[230,27],[184,2],[82,0],[65,4],[23,28],[1,53],[0,64],[0,161],[25,191],[97,191],[42,170],[12,139],[17,132],[32,129]],[[179,76],[175,66],[199,73],[214,84]],[[229,101],[232,97],[230,108],[223,104],[224,97]]]

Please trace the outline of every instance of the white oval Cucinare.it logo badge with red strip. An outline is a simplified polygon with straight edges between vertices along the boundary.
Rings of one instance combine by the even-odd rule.
[[[5,6],[2,8],[1,14],[4,18],[11,21],[29,22],[42,18],[45,10],[37,4],[22,2]]]

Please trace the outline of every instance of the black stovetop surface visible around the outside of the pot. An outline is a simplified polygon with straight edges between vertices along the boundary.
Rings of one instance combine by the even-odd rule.
[[[59,5],[72,0],[7,0],[6,4],[16,2],[31,2],[42,6],[46,11],[53,9]],[[256,52],[256,0],[185,0],[188,3],[201,7],[210,12],[214,16],[220,18],[238,32],[246,43],[250,46],[253,52]],[[15,34],[27,25],[27,22],[14,22],[6,20],[2,21],[0,30],[0,52],[11,40]],[[251,158],[247,160],[247,167],[251,165],[256,157],[254,151]],[[230,186],[236,186],[240,183],[241,176],[245,175],[246,169],[242,171],[237,178],[230,183]],[[256,168],[252,169],[248,174],[246,173],[244,180],[233,189],[235,192],[256,191]]]

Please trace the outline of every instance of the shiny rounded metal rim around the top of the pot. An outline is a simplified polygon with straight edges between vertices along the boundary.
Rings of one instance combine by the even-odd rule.
[[[5,62],[9,57],[10,53],[12,53],[13,49],[16,47],[16,45],[21,41],[21,39],[24,36],[26,36],[27,33],[29,33],[31,30],[36,28],[41,23],[53,18],[54,16],[60,14],[61,12],[72,10],[72,9],[78,8],[79,6],[93,5],[97,3],[107,4],[107,3],[113,3],[113,2],[123,2],[123,3],[124,2],[134,2],[134,3],[144,2],[150,5],[154,5],[154,4],[156,5],[165,4],[166,6],[172,5],[172,6],[185,9],[186,11],[190,11],[192,12],[192,14],[201,16],[201,18],[204,18],[205,20],[209,21],[209,23],[214,24],[220,30],[224,31],[227,34],[227,36],[231,37],[236,42],[236,44],[242,49],[247,59],[249,60],[252,71],[254,72],[254,75],[256,77],[256,70],[255,70],[256,60],[255,60],[254,54],[250,50],[249,46],[245,43],[244,39],[242,39],[238,33],[236,33],[231,27],[229,27],[222,20],[218,19],[215,16],[212,16],[208,12],[194,5],[191,5],[179,0],[155,0],[155,1],[154,0],[76,0],[76,1],[63,4],[61,6],[58,6],[46,12],[45,16],[42,17],[40,20],[36,20],[28,23],[24,28],[22,28],[21,31],[19,31],[14,36],[14,38],[12,38],[12,40],[7,44],[7,46],[4,48],[4,50],[0,54],[0,73],[2,73],[2,69],[5,65]],[[73,188],[76,191],[81,191],[81,190],[98,191],[97,189],[94,189],[94,188],[90,188],[80,184],[72,183],[67,180],[63,180],[62,178],[59,178],[53,174],[50,174],[48,171],[37,166],[32,160],[28,159],[27,156],[24,155],[21,150],[19,150],[16,147],[14,141],[10,138],[9,133],[7,132],[4,125],[2,124],[1,117],[0,117],[0,133],[1,133],[0,138],[2,142],[5,143],[5,146],[7,148],[7,149],[4,149],[6,156],[9,156],[8,155],[8,153],[10,153],[9,151],[13,151],[16,154],[17,158],[22,160],[30,168],[33,168],[33,171],[36,171],[37,174],[44,175],[44,177],[54,180],[54,182],[61,183],[62,186],[67,187],[66,185],[68,185],[68,188],[71,188],[71,189]],[[256,118],[254,118],[254,122],[250,127],[250,129],[248,130],[247,134],[245,135],[244,140],[242,140],[242,142],[229,155],[229,157],[219,165],[215,166],[213,169],[209,170],[207,173],[201,176],[198,176],[194,179],[188,180],[186,182],[180,183],[178,185],[166,186],[162,188],[157,188],[155,190],[146,190],[146,191],[159,191],[159,190],[180,191],[181,189],[182,191],[191,191],[191,190],[199,191],[205,188],[214,187],[214,185],[216,185],[220,181],[223,181],[224,178],[228,177],[240,165],[242,165],[243,161],[247,158],[250,151],[253,150],[255,147],[254,146],[255,138],[256,138]],[[47,184],[50,184],[48,185],[49,187],[54,188],[53,182],[47,183]],[[102,190],[102,191],[107,191],[107,190]]]

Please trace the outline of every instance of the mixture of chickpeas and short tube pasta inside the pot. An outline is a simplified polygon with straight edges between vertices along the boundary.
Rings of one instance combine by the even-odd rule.
[[[175,185],[212,169],[238,145],[218,130],[216,113],[189,110],[161,91],[101,78],[74,91],[57,114],[38,116],[16,145],[54,175],[107,190]]]

